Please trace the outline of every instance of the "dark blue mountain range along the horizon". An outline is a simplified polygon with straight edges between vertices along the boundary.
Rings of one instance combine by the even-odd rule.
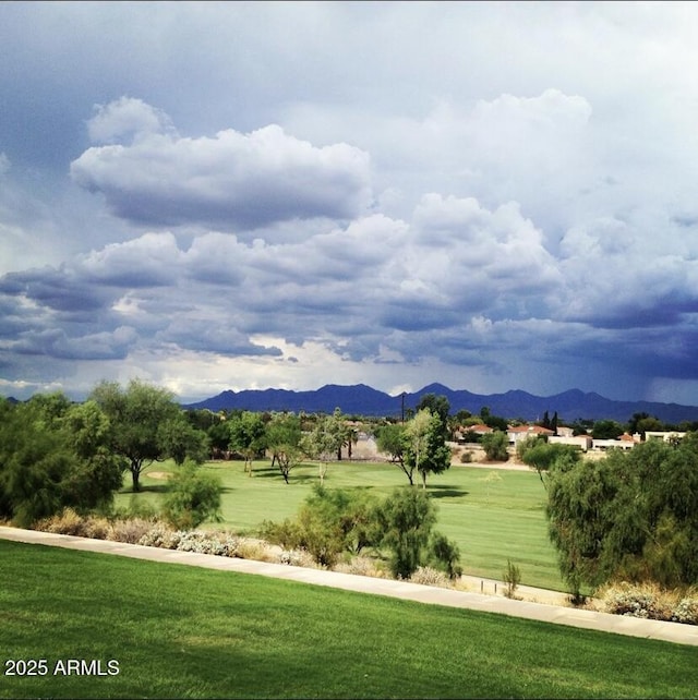
[[[506,419],[537,421],[545,411],[552,418],[557,412],[565,422],[582,420],[614,420],[627,422],[635,413],[648,413],[664,423],[676,425],[683,421],[698,421],[698,407],[658,401],[617,401],[595,393],[570,389],[554,396],[534,396],[521,390],[505,394],[472,394],[466,389],[449,389],[442,384],[430,384],[419,391],[392,396],[365,384],[340,386],[328,384],[311,391],[288,389],[227,390],[186,409],[209,409],[212,411],[243,409],[248,411],[305,411],[306,413],[332,413],[339,408],[342,413],[366,417],[401,417],[402,411],[414,409],[425,394],[445,396],[450,413],[461,409],[473,414],[483,407],[492,415]]]

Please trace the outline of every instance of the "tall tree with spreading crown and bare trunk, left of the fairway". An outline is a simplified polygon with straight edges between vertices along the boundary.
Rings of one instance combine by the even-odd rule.
[[[101,382],[91,398],[109,419],[111,448],[128,460],[133,491],[139,492],[143,470],[168,456],[158,438],[159,427],[176,420],[180,407],[170,391],[140,379],[129,382],[125,390],[117,382]]]

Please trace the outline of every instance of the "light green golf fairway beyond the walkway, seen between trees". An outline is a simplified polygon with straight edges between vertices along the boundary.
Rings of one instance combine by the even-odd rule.
[[[148,471],[172,469],[171,462],[165,462]],[[218,475],[225,487],[224,521],[216,527],[248,534],[256,533],[264,520],[293,516],[318,483],[315,466],[293,470],[288,485],[268,461],[255,462],[252,476],[243,472],[239,461],[209,462],[203,469]],[[387,463],[334,462],[325,476],[327,487],[368,488],[378,496],[407,483],[398,467]],[[128,507],[134,498],[157,507],[164,481],[148,478],[146,472],[142,487],[142,493],[131,494],[128,475],[117,505]],[[428,490],[438,507],[437,529],[457,542],[466,574],[501,579],[510,559],[521,571],[521,583],[565,590],[547,539],[545,490],[535,472],[454,466],[432,476]]]

